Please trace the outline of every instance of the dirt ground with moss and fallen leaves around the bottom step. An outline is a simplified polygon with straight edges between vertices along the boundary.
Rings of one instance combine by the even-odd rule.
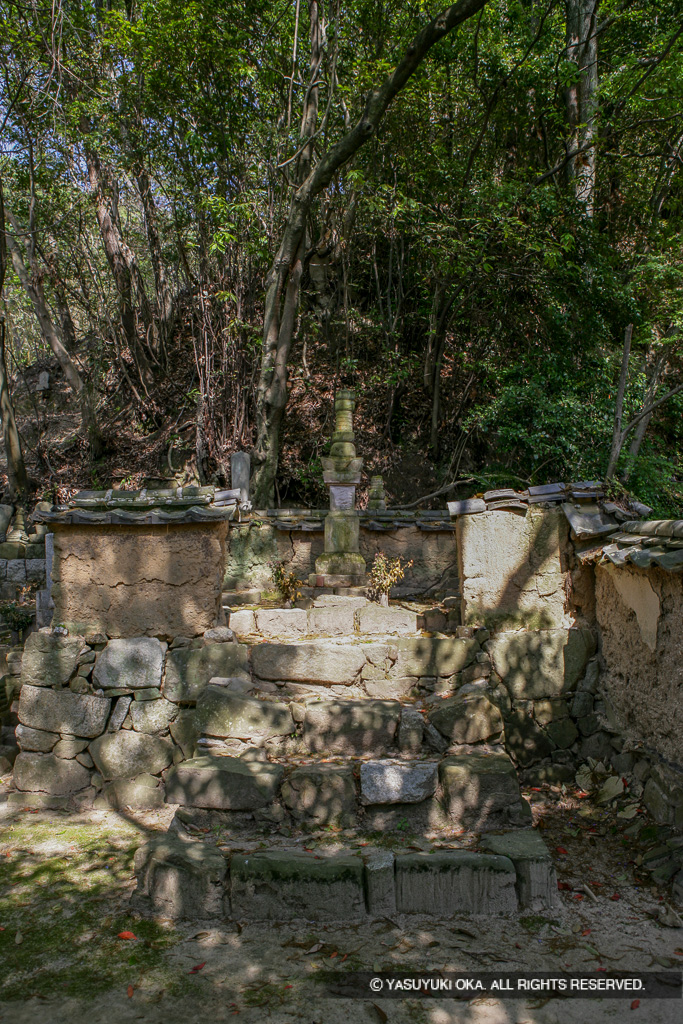
[[[527,793],[553,852],[552,913],[357,926],[173,923],[131,905],[132,857],[162,812],[35,811],[0,804],[0,1021],[7,1024],[572,1024],[683,1019],[671,1000],[470,1000],[326,995],[322,972],[683,970],[683,930],[658,916],[671,890],[643,878],[660,841],[570,794]],[[226,842],[207,835],[206,842]],[[399,842],[410,846],[410,837]],[[661,910],[665,908],[665,910]],[[682,908],[679,905],[678,910]]]

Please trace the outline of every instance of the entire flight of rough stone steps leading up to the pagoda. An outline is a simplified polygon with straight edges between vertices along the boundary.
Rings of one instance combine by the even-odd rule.
[[[236,920],[552,908],[486,631],[425,634],[361,596],[308,604],[230,612],[246,657],[171,726],[194,756],[166,774],[176,818],[138,851],[139,895]]]

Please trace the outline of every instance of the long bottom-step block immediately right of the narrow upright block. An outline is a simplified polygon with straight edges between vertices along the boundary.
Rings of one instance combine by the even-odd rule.
[[[517,909],[516,873],[508,857],[465,850],[396,857],[399,913],[503,914]]]

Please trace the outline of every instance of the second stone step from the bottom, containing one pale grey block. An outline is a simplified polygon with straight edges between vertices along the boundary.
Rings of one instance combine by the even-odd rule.
[[[529,821],[512,762],[500,751],[337,763],[208,754],[169,769],[165,799],[228,812],[236,825],[256,819],[373,830],[405,821],[485,830]]]

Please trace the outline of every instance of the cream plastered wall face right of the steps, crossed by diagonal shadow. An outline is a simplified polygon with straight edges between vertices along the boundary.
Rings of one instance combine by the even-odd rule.
[[[560,509],[462,517],[456,537],[464,623],[562,624],[568,525]]]

